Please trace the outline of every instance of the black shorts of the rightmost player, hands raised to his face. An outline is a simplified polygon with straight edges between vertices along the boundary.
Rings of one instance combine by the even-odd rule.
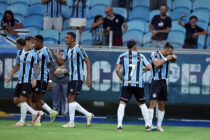
[[[150,88],[150,100],[167,101],[168,91],[166,80],[153,80]]]

